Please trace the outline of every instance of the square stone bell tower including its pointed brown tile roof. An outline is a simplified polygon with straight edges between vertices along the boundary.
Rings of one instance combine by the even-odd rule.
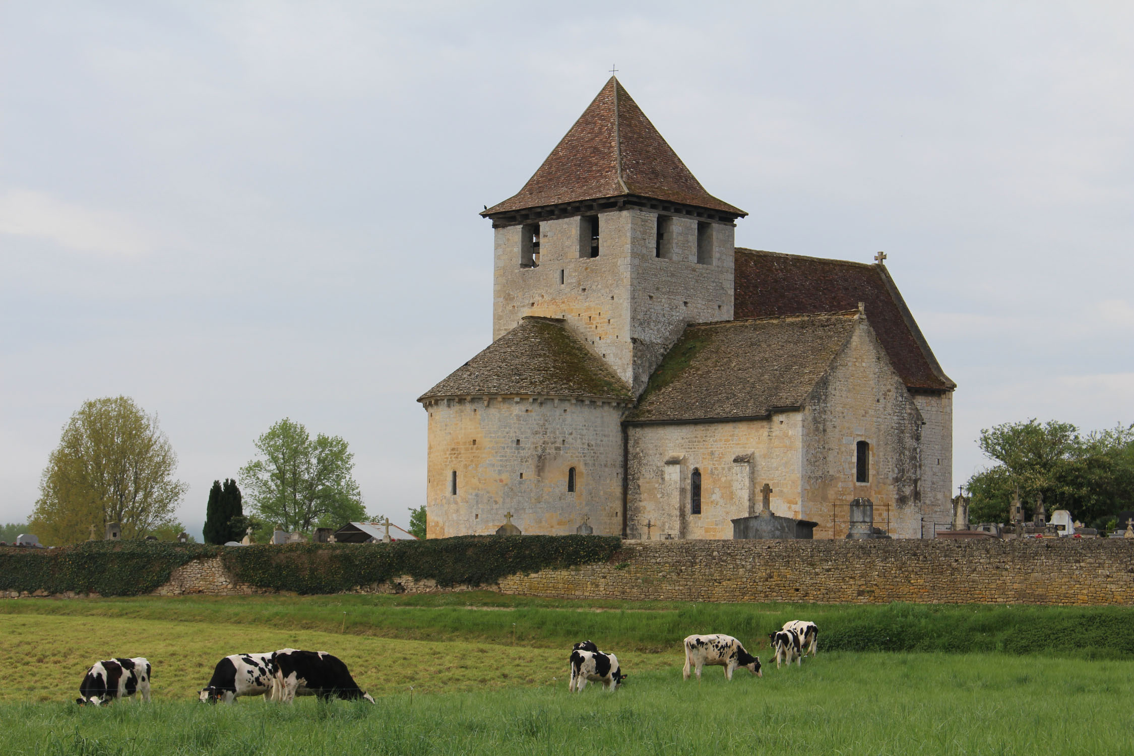
[[[688,323],[733,320],[735,221],[611,77],[513,197],[496,235],[492,338],[567,328],[641,393]]]

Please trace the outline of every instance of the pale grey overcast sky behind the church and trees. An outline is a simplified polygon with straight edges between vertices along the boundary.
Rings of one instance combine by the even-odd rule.
[[[617,65],[737,244],[887,265],[980,428],[1134,422],[1134,6],[0,0],[0,520],[160,416],[200,537],[287,416],[372,513],[491,339],[492,231]]]

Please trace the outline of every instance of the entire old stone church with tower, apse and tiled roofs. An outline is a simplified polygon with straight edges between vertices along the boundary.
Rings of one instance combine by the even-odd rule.
[[[895,537],[950,516],[953,391],[874,264],[735,246],[611,78],[494,233],[492,343],[421,396],[429,537],[731,538],[777,515]]]

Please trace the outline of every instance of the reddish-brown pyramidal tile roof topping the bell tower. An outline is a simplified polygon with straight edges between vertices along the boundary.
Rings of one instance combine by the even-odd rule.
[[[621,196],[747,215],[705,192],[613,76],[524,188],[481,215]]]

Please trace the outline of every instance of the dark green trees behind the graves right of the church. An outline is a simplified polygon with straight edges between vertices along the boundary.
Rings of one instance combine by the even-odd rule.
[[[1049,512],[1067,509],[1084,523],[1134,506],[1134,425],[1083,436],[1069,423],[1033,418],[981,431],[980,448],[998,464],[968,481],[976,521],[1007,523],[1017,489],[1026,517],[1040,494]]]

